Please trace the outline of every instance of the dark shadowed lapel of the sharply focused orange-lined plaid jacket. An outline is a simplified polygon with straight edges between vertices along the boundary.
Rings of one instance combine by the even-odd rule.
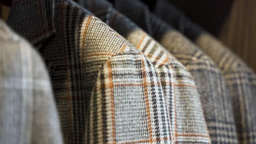
[[[54,0],[13,0],[7,23],[40,49],[55,33],[54,9]]]

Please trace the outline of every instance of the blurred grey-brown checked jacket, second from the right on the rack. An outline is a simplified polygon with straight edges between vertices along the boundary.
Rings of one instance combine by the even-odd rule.
[[[144,30],[150,29],[153,37],[187,67],[201,95],[212,143],[237,143],[231,98],[225,86],[224,76],[212,59],[182,34],[150,14],[146,6],[139,1],[120,0],[116,1],[115,7]]]

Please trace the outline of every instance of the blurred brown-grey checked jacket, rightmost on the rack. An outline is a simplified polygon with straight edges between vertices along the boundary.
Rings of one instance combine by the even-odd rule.
[[[256,75],[253,70],[167,1],[158,1],[155,13],[193,40],[218,64],[232,97],[239,142],[256,143]],[[166,13],[170,15],[167,16]]]

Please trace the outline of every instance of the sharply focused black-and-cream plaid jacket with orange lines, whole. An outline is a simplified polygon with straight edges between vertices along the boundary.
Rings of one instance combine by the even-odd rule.
[[[25,0],[8,23],[49,65],[66,143],[170,143],[152,62],[101,20],[73,1]]]

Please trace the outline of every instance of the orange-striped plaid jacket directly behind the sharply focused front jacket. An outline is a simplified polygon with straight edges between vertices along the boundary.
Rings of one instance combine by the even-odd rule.
[[[172,142],[210,143],[199,93],[187,69],[135,23],[113,9],[107,1],[82,0],[80,4],[123,35],[153,62],[164,89],[171,118]]]

